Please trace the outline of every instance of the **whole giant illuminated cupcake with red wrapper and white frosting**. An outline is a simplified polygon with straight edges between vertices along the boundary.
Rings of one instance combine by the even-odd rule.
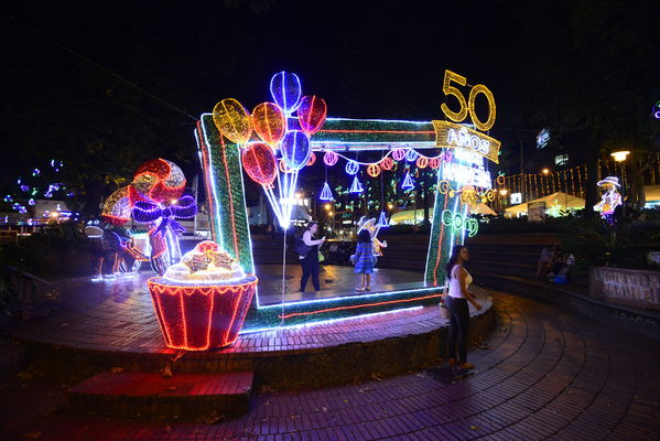
[[[210,240],[197,244],[149,291],[167,347],[205,351],[238,337],[258,279]]]

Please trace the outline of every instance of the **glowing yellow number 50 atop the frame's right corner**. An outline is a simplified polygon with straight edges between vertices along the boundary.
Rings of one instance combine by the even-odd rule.
[[[467,84],[467,78],[453,73],[452,71],[444,72],[444,83],[442,85],[442,90],[445,95],[453,95],[458,99],[458,104],[461,105],[461,109],[458,111],[453,111],[446,104],[442,104],[440,107],[442,111],[450,118],[452,121],[461,122],[467,117],[469,112],[469,117],[477,129],[482,131],[486,131],[493,127],[495,123],[495,97],[493,93],[488,89],[488,87],[483,84],[477,84],[473,86],[469,90],[469,98],[467,103],[465,101],[465,97],[458,90],[458,88],[452,86],[452,82],[457,83],[459,86],[465,86]],[[486,122],[482,122],[477,117],[477,112],[475,111],[475,99],[478,94],[484,94],[486,99],[488,100],[488,119]]]

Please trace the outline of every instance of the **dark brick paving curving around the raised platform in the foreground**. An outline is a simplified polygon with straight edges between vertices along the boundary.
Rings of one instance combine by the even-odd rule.
[[[3,439],[39,440],[657,440],[658,342],[534,300],[495,294],[490,348],[475,375],[425,373],[300,392],[261,391],[250,412],[206,423],[110,421],[57,411],[61,385],[2,390]],[[11,407],[10,407],[11,406]]]

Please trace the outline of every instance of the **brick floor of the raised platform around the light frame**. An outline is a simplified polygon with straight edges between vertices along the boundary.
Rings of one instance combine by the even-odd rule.
[[[277,266],[269,268],[281,270],[281,267]],[[288,269],[292,278],[286,281],[290,284],[297,283],[296,271],[300,271],[300,266]],[[351,267],[326,267],[322,272],[324,288],[343,287],[343,291],[324,289],[304,295],[294,292],[286,294],[286,300],[359,294],[354,289],[349,289],[353,287],[354,278],[357,277],[351,270]],[[279,284],[275,280],[277,273],[263,276],[266,271],[262,269],[260,272],[262,280],[266,279],[263,283],[266,287]],[[82,349],[142,354],[174,353],[174,349],[164,345],[151,295],[147,289],[145,280],[152,276],[154,275],[151,271],[142,271],[132,278],[123,277],[100,282],[91,281],[90,277],[62,280],[58,311],[25,323],[14,334],[31,342]],[[415,272],[379,270],[374,277],[371,292],[421,283],[410,281],[419,278],[421,275]],[[392,283],[405,280],[408,283]],[[278,300],[277,295],[269,297],[268,289],[262,289],[261,292],[266,292],[263,295],[270,301]],[[484,313],[491,305],[488,299],[483,299],[482,303],[485,308],[479,313]],[[472,310],[472,313],[477,314],[475,310]],[[313,330],[304,326],[242,333],[231,347],[204,354],[304,351],[344,343],[371,342],[399,335],[423,334],[446,324],[447,321],[440,318],[437,306],[416,308],[405,312],[353,318],[333,324],[315,324]]]

